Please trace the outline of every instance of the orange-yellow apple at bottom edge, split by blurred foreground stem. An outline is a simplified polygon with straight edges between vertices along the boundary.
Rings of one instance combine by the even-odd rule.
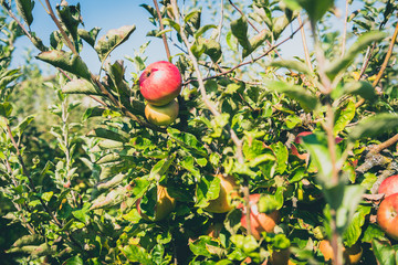
[[[320,251],[324,255],[325,262],[333,259],[333,247],[331,242],[323,240],[320,243]],[[363,255],[363,248],[359,244],[354,244],[353,246],[346,248],[343,246],[343,256],[345,264],[357,264],[359,263]]]

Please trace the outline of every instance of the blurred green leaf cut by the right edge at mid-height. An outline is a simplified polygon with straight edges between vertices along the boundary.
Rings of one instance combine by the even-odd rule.
[[[398,127],[398,115],[377,114],[373,117],[365,118],[349,131],[348,140],[355,141],[363,137],[379,136],[389,130],[396,131]]]

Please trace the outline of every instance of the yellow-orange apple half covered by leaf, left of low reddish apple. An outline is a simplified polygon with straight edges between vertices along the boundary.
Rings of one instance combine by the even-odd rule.
[[[238,186],[232,176],[216,174],[214,178],[220,179],[220,193],[217,199],[209,201],[205,210],[212,213],[229,212],[232,210],[231,199],[238,197]]]

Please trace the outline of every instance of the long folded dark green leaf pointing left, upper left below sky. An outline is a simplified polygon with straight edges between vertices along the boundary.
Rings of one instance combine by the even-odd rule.
[[[80,56],[73,55],[73,53],[53,50],[40,53],[36,59],[85,80],[91,78],[87,65]]]

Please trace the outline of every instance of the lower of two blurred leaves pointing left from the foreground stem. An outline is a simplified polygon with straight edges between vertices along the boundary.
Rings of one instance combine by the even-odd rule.
[[[286,94],[289,97],[297,100],[304,109],[314,110],[320,100],[318,97],[312,95],[304,87],[290,85],[282,81],[268,81],[265,86],[272,91]]]

